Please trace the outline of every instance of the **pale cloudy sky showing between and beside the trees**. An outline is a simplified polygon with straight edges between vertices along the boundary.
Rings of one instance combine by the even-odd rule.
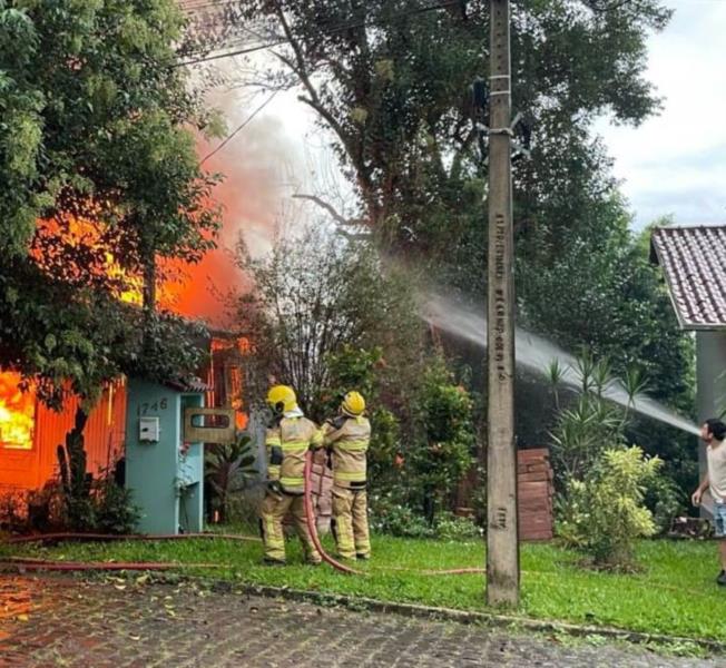
[[[675,14],[666,30],[648,41],[646,73],[663,98],[660,114],[637,128],[614,126],[601,118],[595,130],[605,139],[614,160],[635,229],[664,216],[671,216],[678,225],[724,224],[726,0],[665,3],[675,9]],[[230,128],[265,101],[259,97],[243,102],[236,96],[233,91],[222,105]],[[320,189],[320,181],[330,185],[336,180],[334,167],[325,166],[334,163],[324,149],[325,143],[314,129],[313,112],[295,99],[295,94],[281,94],[225,147],[215,166],[225,170],[230,161],[239,165],[248,159],[249,145],[257,145],[262,149],[256,155],[257,166],[267,164],[266,185],[276,181],[278,200],[290,202],[294,191],[314,191],[316,186]],[[261,160],[265,155],[272,159]],[[277,174],[271,179],[272,171]],[[264,191],[268,205],[273,194],[269,188]],[[279,212],[271,214],[277,216]]]

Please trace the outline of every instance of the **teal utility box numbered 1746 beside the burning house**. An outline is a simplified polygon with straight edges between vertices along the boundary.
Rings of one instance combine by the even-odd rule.
[[[144,533],[203,529],[204,444],[185,438],[185,412],[203,406],[202,392],[128,382],[126,487],[141,510]]]

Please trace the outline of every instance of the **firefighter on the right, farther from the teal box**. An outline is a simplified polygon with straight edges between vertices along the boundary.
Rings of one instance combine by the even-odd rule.
[[[371,558],[365,491],[371,423],[364,411],[363,396],[349,392],[340,415],[323,426],[323,444],[331,451],[333,463],[335,540],[337,553],[344,559]]]

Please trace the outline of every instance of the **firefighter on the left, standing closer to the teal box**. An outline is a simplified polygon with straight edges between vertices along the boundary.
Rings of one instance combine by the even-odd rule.
[[[285,563],[283,520],[287,513],[303,543],[308,563],[321,562],[305,521],[304,469],[305,453],[322,445],[323,436],[314,422],[297,406],[295,391],[287,385],[274,385],[267,392],[267,405],[273,416],[267,428],[267,493],[262,503],[262,528],[265,546],[264,562]]]

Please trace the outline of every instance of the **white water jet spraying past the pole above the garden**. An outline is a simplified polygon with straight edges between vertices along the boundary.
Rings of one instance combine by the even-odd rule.
[[[481,312],[436,294],[428,294],[422,301],[423,318],[429,324],[454,336],[471,341],[482,348],[487,347],[487,318]],[[550,364],[558,360],[565,370],[561,382],[572,387],[580,386],[581,379],[577,372],[577,360],[570,353],[520,327],[517,327],[514,340],[517,366],[546,375]],[[622,384],[617,381],[611,382],[602,394],[616,403],[632,407],[641,415],[699,435],[698,428],[689,420],[645,394],[638,394],[631,402]]]

